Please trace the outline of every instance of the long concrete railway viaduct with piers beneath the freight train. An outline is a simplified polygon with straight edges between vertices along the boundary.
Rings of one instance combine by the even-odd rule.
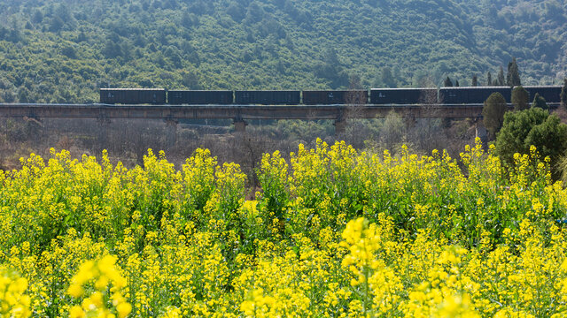
[[[511,107],[511,106],[510,106]],[[253,119],[328,119],[334,120],[336,133],[344,133],[347,119],[383,118],[396,112],[408,122],[417,118],[472,118],[477,134],[485,135],[479,123],[482,104],[424,105],[108,105],[108,104],[0,104],[0,117],[94,118],[101,123],[112,119],[162,119],[172,127],[186,118],[232,119],[237,133],[244,133],[247,120]]]

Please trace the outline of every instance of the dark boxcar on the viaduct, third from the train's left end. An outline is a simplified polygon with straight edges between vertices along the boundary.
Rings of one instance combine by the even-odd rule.
[[[299,91],[235,91],[234,102],[238,105],[297,105]]]

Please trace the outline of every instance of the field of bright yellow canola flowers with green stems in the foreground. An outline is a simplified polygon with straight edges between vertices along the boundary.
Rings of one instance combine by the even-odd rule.
[[[1,317],[564,317],[567,193],[492,149],[0,170]]]

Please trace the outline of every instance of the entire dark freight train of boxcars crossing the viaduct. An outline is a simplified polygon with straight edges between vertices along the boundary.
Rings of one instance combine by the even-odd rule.
[[[530,101],[536,94],[560,102],[561,86],[525,86]],[[170,90],[163,88],[101,88],[104,104],[170,105],[335,105],[335,104],[474,104],[493,93],[510,102],[510,87],[372,88],[368,90]]]

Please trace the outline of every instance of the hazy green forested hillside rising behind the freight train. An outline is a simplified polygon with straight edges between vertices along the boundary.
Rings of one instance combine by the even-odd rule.
[[[4,0],[0,102],[96,102],[99,87],[461,85],[517,57],[567,70],[557,0]]]

